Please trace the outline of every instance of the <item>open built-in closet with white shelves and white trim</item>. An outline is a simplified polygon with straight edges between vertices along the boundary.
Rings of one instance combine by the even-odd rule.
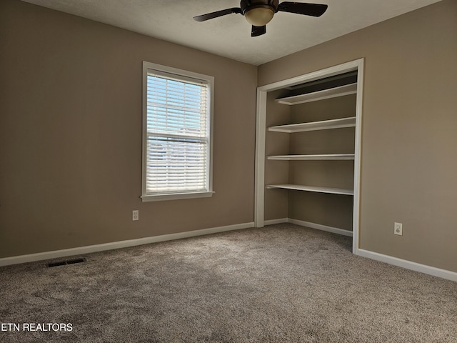
[[[290,222],[358,250],[363,59],[257,89],[256,227]]]

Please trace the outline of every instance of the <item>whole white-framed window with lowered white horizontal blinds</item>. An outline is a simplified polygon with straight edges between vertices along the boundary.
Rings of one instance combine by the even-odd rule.
[[[214,77],[143,62],[144,202],[211,197]]]

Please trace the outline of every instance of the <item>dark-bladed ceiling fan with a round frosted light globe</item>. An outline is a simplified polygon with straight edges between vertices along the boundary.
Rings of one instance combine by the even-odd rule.
[[[278,11],[304,14],[306,16],[321,16],[326,10],[327,5],[305,4],[301,2],[283,1],[278,4],[278,0],[241,0],[240,6],[231,9],[194,16],[196,21],[206,21],[226,14],[239,13],[243,15],[249,24],[252,25],[251,36],[261,36],[266,33],[268,24],[273,15]]]

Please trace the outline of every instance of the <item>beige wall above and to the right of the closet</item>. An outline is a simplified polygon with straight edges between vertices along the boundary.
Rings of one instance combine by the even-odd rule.
[[[443,0],[258,68],[261,86],[365,58],[360,247],[453,272],[456,32],[457,1]]]

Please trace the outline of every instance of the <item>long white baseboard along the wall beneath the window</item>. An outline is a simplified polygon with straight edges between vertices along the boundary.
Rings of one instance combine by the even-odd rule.
[[[71,249],[54,250],[52,252],[39,252],[37,254],[27,254],[14,257],[5,257],[0,259],[0,267],[8,266],[10,264],[19,264],[25,262],[36,262],[44,259],[57,259],[59,257],[67,257],[81,254],[89,254],[91,252],[103,252],[105,250],[135,247],[137,245],[151,244],[157,242],[171,241],[173,239],[189,238],[202,236],[204,234],[216,234],[218,232],[233,231],[238,229],[248,229],[254,227],[254,223],[243,223],[227,225],[225,227],[212,227],[209,229],[194,230],[188,232],[179,232],[177,234],[163,234],[161,236],[144,237],[139,239],[129,239],[126,241],[111,242],[104,244],[89,245],[87,247],[77,247]]]

